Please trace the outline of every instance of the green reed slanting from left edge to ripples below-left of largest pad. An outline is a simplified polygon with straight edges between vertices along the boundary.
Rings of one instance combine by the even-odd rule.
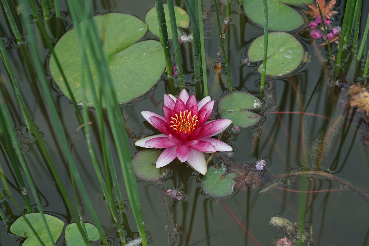
[[[21,107],[23,117],[25,124],[27,125],[28,131],[31,131],[31,120],[30,120],[30,114],[28,113],[28,110],[24,104],[22,94],[20,92],[20,89],[18,87],[17,79],[15,78],[15,74],[13,71],[13,68],[11,67],[10,60],[8,58],[8,55],[6,53],[5,47],[3,42],[0,42],[0,57],[4,62],[5,68],[10,76],[11,82],[13,83],[13,88],[15,91],[15,95],[17,96],[17,101],[19,103],[19,106]]]

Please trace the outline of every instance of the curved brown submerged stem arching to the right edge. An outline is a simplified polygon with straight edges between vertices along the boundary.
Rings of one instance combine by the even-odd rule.
[[[358,194],[366,203],[369,204],[369,197],[367,194],[361,191],[358,187],[353,184],[350,184],[348,181],[342,180],[341,178],[331,174],[329,172],[324,171],[316,171],[316,170],[305,170],[305,171],[293,171],[287,174],[280,174],[273,177],[273,180],[280,179],[280,178],[290,178],[290,177],[297,177],[297,176],[315,176],[315,177],[322,177],[326,178],[327,180],[332,180],[338,182],[339,184],[351,189],[355,194]]]

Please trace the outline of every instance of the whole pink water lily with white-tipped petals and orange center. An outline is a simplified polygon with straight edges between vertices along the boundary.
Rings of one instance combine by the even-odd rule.
[[[204,153],[231,151],[228,144],[211,138],[224,131],[231,120],[209,120],[214,101],[206,96],[196,102],[194,95],[189,96],[182,90],[179,98],[164,95],[164,117],[149,111],[141,114],[156,129],[162,132],[136,141],[135,145],[145,148],[165,148],[156,161],[156,167],[171,163],[176,157],[187,163],[197,172],[205,175],[207,165]]]

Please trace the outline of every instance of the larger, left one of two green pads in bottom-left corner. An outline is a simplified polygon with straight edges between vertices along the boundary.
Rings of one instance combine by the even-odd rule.
[[[10,226],[11,233],[26,238],[23,243],[23,246],[41,245],[41,242],[35,236],[35,233],[31,229],[28,222],[32,225],[32,227],[37,232],[38,236],[46,246],[53,245],[53,243],[49,238],[48,232],[44,226],[44,223],[42,222],[41,216],[42,216],[41,213],[25,214],[19,217]],[[44,214],[44,216],[55,243],[62,233],[64,222],[48,214]],[[25,218],[28,220],[28,222],[25,220]]]

